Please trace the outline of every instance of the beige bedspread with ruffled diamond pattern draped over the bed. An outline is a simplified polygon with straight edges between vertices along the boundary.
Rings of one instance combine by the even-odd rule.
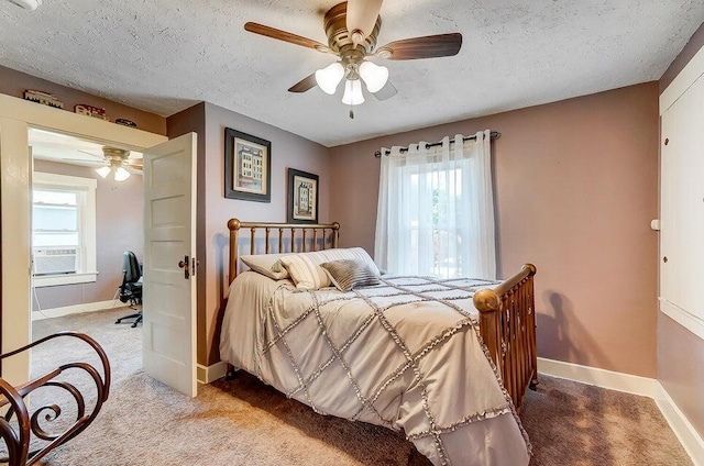
[[[527,465],[474,317],[474,290],[492,285],[397,277],[310,292],[245,271],[220,355],[320,413],[403,429],[436,465]]]

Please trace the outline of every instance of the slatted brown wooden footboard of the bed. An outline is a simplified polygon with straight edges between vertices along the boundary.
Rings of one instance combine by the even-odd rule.
[[[526,264],[498,287],[474,295],[482,339],[517,410],[526,389],[538,384],[535,275],[536,266]]]

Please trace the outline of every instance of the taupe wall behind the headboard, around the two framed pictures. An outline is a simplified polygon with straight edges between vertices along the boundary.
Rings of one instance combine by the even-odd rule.
[[[205,110],[205,111],[201,111]],[[198,134],[205,142],[204,156],[198,178],[199,213],[199,307],[198,307],[198,363],[213,364],[219,360],[219,323],[223,311],[223,299],[228,291],[228,220],[240,218],[246,221],[283,222],[286,220],[286,168],[297,168],[320,177],[319,220],[329,219],[330,170],[328,148],[293,133],[206,103],[189,114],[168,119],[169,136],[172,122],[178,131],[204,131]],[[205,122],[205,125],[204,123]],[[232,127],[272,143],[272,201],[252,202],[224,198],[224,129]],[[200,149],[200,144],[199,144]],[[200,203],[202,201],[202,203]],[[200,300],[205,299],[202,306]]]

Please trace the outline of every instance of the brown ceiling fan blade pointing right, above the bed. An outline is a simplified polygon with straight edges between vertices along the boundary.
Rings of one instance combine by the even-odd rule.
[[[375,54],[388,59],[436,58],[457,55],[460,47],[462,34],[455,32],[391,42],[378,47]]]

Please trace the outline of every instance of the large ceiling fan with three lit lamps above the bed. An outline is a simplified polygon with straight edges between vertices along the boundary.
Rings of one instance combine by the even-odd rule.
[[[344,79],[342,103],[358,106],[364,102],[361,81],[378,100],[386,100],[397,92],[388,81],[388,69],[374,64],[370,58],[400,60],[446,57],[457,55],[462,46],[462,34],[450,33],[394,41],[376,47],[376,37],[382,27],[378,15],[381,8],[382,0],[349,0],[332,7],[323,20],[328,45],[253,22],[244,24],[244,29],[254,34],[337,55],[338,60],[307,76],[288,91],[306,92],[317,85],[323,92],[333,95]],[[352,110],[350,118],[354,118]]]

